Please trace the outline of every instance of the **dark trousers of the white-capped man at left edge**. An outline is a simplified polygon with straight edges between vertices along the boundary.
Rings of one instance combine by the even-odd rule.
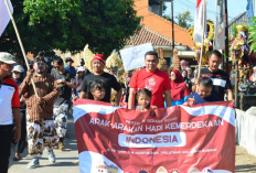
[[[0,125],[0,173],[8,172],[13,125]]]

